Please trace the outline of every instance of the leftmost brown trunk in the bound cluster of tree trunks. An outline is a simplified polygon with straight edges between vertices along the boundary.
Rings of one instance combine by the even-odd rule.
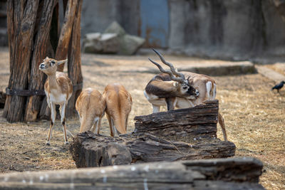
[[[31,46],[33,43],[33,28],[36,23],[36,13],[38,9],[38,0],[32,1],[14,1],[9,2],[8,10],[14,9],[14,22],[8,23],[9,50],[10,53],[10,78],[9,88],[24,90],[28,86],[28,75],[30,70]],[[11,16],[11,14],[7,14]],[[11,18],[8,19],[11,21]],[[14,28],[14,29],[13,29]],[[9,122],[21,121],[24,116],[24,102],[26,98],[21,96],[7,95],[4,109],[4,117]]]

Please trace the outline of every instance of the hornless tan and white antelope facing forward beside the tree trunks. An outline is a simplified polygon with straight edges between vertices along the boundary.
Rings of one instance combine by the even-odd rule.
[[[67,102],[72,95],[73,86],[71,80],[65,73],[56,71],[58,65],[66,63],[66,61],[67,59],[55,60],[46,57],[43,60],[43,63],[39,65],[39,69],[48,75],[44,85],[44,90],[46,92],[46,101],[48,102],[48,107],[51,109],[51,125],[48,131],[46,145],[50,145],[53,124],[56,120],[56,105],[60,105],[59,111],[61,112],[61,124],[63,125],[64,142],[65,144],[68,144],[65,112]]]

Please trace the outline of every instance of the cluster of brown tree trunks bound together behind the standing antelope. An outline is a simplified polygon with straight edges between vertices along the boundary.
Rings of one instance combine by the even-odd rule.
[[[7,4],[10,78],[6,89],[4,117],[9,122],[34,121],[48,117],[43,85],[46,80],[38,65],[46,56],[68,57],[68,76],[73,82],[73,97],[68,104],[71,115],[82,89],[80,20],[82,0],[64,0],[63,26],[59,30],[58,1],[16,1]],[[59,68],[63,70],[63,66]],[[41,112],[41,114],[40,114]]]

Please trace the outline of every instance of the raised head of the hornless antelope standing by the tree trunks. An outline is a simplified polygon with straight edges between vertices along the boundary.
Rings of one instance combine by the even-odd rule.
[[[53,58],[46,57],[43,60],[43,63],[39,65],[39,70],[43,71],[43,73],[46,73],[47,75],[50,75],[52,73],[56,73],[58,65],[66,63],[66,61],[67,59],[66,60],[55,60]]]

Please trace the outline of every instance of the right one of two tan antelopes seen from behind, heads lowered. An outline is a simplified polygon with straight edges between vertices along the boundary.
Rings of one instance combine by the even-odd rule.
[[[106,116],[110,125],[110,135],[114,137],[116,132],[125,134],[133,104],[132,96],[123,85],[115,83],[105,87],[103,97],[107,105]]]

